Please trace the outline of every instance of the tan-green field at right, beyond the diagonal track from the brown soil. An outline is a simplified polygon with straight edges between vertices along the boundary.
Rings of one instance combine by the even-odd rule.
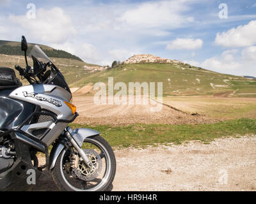
[[[214,96],[168,96],[163,103],[186,113],[199,113],[217,120],[256,119],[256,98]]]

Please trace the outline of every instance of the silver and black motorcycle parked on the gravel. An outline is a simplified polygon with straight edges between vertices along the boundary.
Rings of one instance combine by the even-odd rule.
[[[115,177],[111,146],[98,131],[68,126],[79,114],[60,70],[35,45],[29,54],[22,36],[26,68],[0,68],[0,191],[28,191],[45,170],[61,191],[108,190]],[[45,154],[38,166],[37,153]]]

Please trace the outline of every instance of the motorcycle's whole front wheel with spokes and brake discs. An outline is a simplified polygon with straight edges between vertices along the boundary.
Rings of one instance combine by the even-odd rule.
[[[74,148],[63,149],[52,169],[52,179],[61,191],[106,191],[116,172],[115,154],[99,135],[84,140],[82,149],[92,161],[88,168]]]

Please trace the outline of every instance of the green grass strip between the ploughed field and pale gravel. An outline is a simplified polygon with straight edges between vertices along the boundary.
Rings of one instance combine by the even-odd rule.
[[[215,124],[167,125],[132,124],[129,126],[84,126],[72,124],[72,128],[93,128],[101,133],[112,147],[147,147],[148,145],[181,144],[191,140],[209,143],[215,138],[256,134],[255,119],[226,120]]]

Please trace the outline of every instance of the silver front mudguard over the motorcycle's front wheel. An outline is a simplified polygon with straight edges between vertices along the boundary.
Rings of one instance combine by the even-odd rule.
[[[89,128],[74,129],[71,134],[72,138],[76,140],[76,143],[79,145],[79,147],[82,147],[85,138],[95,135],[100,135],[100,133],[98,131],[95,131],[94,129]],[[51,154],[49,157],[50,170],[54,168],[58,156],[60,156],[60,153],[64,148],[65,146],[62,143],[56,143],[54,147],[52,147]]]

